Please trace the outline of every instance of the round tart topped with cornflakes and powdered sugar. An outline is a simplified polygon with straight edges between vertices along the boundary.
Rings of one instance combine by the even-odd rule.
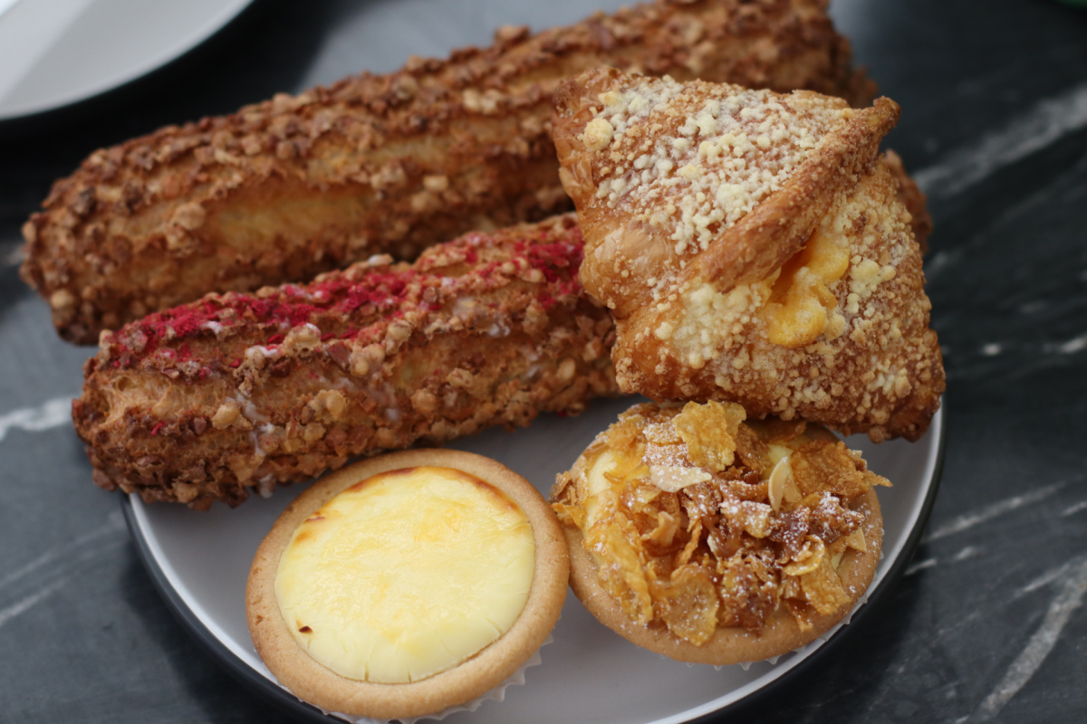
[[[636,405],[558,477],[571,586],[602,623],[679,661],[779,656],[875,574],[889,485],[823,428],[734,403]]]

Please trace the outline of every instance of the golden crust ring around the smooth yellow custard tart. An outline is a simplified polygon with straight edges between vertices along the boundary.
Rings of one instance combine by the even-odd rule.
[[[420,466],[454,468],[505,493],[528,518],[536,545],[533,584],[525,608],[498,640],[460,665],[410,684],[374,684],[345,678],[317,663],[295,640],[276,599],[279,557],[310,515],[354,483],[389,470]],[[246,587],[246,618],[261,659],[279,683],[323,709],[359,716],[395,719],[435,713],[471,701],[498,686],[542,644],[559,620],[570,563],[554,513],[528,481],[472,453],[418,449],[357,462],[302,493],[261,543]]]

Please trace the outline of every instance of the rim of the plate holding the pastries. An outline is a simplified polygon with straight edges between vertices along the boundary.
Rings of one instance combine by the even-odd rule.
[[[855,608],[850,614],[848,619],[849,623],[859,621],[866,614],[867,611],[873,608],[878,608],[878,605],[886,599],[887,592],[897,587],[897,584],[905,572],[917,545],[921,543],[921,538],[928,523],[933,506],[936,503],[940,480],[944,473],[947,440],[947,430],[944,424],[944,414],[946,411],[946,407],[947,395],[945,394],[940,399],[940,407],[933,416],[929,427],[929,430],[936,434],[936,441],[935,448],[929,453],[929,460],[926,460],[925,465],[926,470],[929,469],[929,467],[932,469],[932,473],[927,481],[928,487],[925,491],[925,495],[920,507],[917,508],[916,517],[913,520],[910,532],[907,534],[901,546],[899,546],[898,551],[895,552],[894,558],[891,559],[888,568],[884,571],[883,575],[880,576],[877,573],[877,579],[873,581],[873,585],[870,588],[864,602]],[[136,543],[140,560],[147,572],[150,574],[152,583],[158,589],[160,596],[162,596],[162,598],[166,601],[167,608],[183,624],[186,631],[188,631],[188,633],[197,640],[200,647],[204,649],[207,653],[211,655],[211,657],[223,665],[236,681],[240,682],[251,693],[257,694],[260,697],[264,697],[265,699],[271,699],[276,706],[289,711],[295,716],[300,717],[303,721],[314,723],[324,722],[327,724],[329,722],[335,722],[342,724],[345,720],[326,714],[317,707],[302,701],[293,694],[276,684],[273,679],[267,678],[260,671],[253,669],[235,651],[233,651],[230,647],[222,640],[222,638],[216,636],[208,623],[192,610],[182,594],[173,585],[165,570],[159,563],[158,557],[154,554],[154,548],[157,546],[152,545],[152,543],[143,535],[139,523],[139,516],[133,505],[132,498],[134,495],[136,494],[132,493],[128,495],[122,495],[121,508],[124,513],[128,531]],[[138,500],[138,504],[142,506],[142,500]],[[825,639],[816,639],[815,642],[809,644],[805,647],[808,650],[803,652],[801,658],[791,663],[791,665],[775,668],[777,673],[773,678],[764,681],[761,684],[759,683],[759,679],[755,679],[740,687],[740,691],[751,687],[753,688],[745,694],[741,694],[739,697],[733,698],[736,694],[736,690],[733,690],[719,699],[708,701],[683,712],[677,712],[671,716],[654,720],[648,724],[710,724],[711,722],[721,721],[720,717],[726,713],[732,713],[741,708],[748,709],[757,706],[759,702],[767,700],[770,697],[782,690],[787,683],[796,681],[801,672],[809,671],[816,664],[821,663],[825,659],[826,651],[833,648],[833,645],[837,642],[841,640],[842,631],[846,628],[846,623],[837,624],[836,627],[832,630],[830,635]],[[788,662],[786,663],[788,664]],[[729,698],[732,698],[730,701],[719,703],[722,699]]]

